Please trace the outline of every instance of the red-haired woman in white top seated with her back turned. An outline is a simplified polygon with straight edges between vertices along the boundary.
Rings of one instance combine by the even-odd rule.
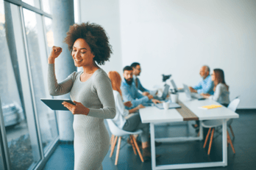
[[[113,119],[113,122],[122,130],[133,132],[135,130],[141,129],[143,131],[143,133],[141,134],[143,159],[144,161],[149,160],[151,158],[151,152],[149,148],[149,123],[142,123],[140,114],[138,112],[135,113],[140,108],[144,108],[144,106],[139,105],[135,108],[127,110],[125,106],[131,107],[132,103],[130,101],[126,103],[123,102],[122,92],[120,89],[121,76],[116,71],[110,71],[108,73],[108,76],[110,78],[113,88],[113,94],[115,97],[116,115]],[[132,114],[132,116],[129,117],[129,114]]]

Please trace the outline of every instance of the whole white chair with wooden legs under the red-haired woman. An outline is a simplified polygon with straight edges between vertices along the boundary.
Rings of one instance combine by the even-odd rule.
[[[112,136],[110,138],[110,144],[111,144],[110,158],[113,155],[113,152],[115,149],[115,144],[116,144],[117,138],[119,137],[118,138],[118,147],[117,147],[116,155],[115,155],[115,166],[118,163],[118,155],[119,155],[120,145],[121,145],[121,136],[126,136],[126,135],[129,135],[129,138],[131,139],[130,141],[132,143],[133,152],[135,153],[135,155],[137,155],[137,152],[136,152],[136,149],[137,149],[138,155],[140,156],[141,161],[144,162],[143,157],[141,155],[141,151],[138,147],[137,141],[136,141],[135,137],[133,136],[133,135],[141,134],[142,130],[136,130],[135,132],[128,132],[125,130],[121,130],[119,127],[117,127],[112,119],[106,119],[106,120],[107,120],[108,126],[110,127],[110,132],[112,133]]]

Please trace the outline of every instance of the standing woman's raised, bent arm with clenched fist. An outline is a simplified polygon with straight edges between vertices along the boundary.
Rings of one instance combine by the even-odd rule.
[[[48,58],[48,88],[49,93],[52,96],[65,95],[71,91],[73,86],[72,77],[74,73],[68,76],[60,84],[57,83],[57,78],[55,75],[54,61],[62,52],[62,48],[53,46],[51,48],[51,54]]]

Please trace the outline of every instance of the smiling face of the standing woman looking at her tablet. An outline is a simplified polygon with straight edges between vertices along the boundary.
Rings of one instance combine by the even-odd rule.
[[[90,51],[90,46],[82,38],[79,38],[74,42],[71,55],[76,67],[88,66],[94,63],[94,55]]]

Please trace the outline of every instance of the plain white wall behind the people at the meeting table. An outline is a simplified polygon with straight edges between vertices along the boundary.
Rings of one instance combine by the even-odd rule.
[[[163,73],[192,86],[207,64],[224,70],[230,99],[241,95],[238,108],[256,108],[256,1],[119,3],[122,64],[141,63],[143,86],[160,84]]]

